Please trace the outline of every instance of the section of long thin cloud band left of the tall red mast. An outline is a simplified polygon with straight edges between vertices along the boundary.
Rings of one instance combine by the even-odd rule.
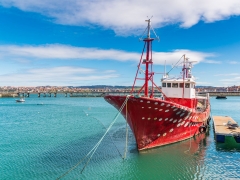
[[[120,50],[103,50],[97,48],[73,47],[60,44],[42,46],[0,45],[0,58],[20,57],[37,59],[81,59],[81,60],[119,60],[127,61],[139,59],[138,53]]]

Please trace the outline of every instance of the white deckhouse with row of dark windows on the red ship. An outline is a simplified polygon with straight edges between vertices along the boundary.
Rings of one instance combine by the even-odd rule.
[[[163,78],[162,92],[169,98],[195,98],[195,81],[193,78]]]

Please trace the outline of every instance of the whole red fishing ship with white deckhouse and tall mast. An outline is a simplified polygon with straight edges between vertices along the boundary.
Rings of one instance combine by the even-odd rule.
[[[195,78],[191,74],[192,62],[185,55],[182,73],[178,78],[170,78],[164,73],[161,88],[153,81],[151,21],[147,26],[147,37],[143,39],[144,48],[138,65],[130,95],[106,95],[104,99],[121,111],[128,122],[137,142],[138,150],[167,145],[191,138],[206,131],[210,120],[209,95],[197,96]],[[155,33],[155,32],[154,32]],[[145,59],[143,59],[145,57]],[[145,66],[145,71],[141,69]],[[139,78],[139,72],[144,73]],[[137,80],[144,84],[136,92]],[[155,97],[154,92],[161,92]]]

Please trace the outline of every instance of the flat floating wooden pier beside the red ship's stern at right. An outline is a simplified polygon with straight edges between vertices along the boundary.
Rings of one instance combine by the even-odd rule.
[[[217,142],[224,143],[225,137],[233,137],[240,143],[240,128],[229,116],[213,116],[215,138]]]

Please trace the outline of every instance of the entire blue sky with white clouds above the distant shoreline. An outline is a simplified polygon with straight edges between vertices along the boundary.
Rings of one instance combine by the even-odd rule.
[[[239,0],[0,0],[0,86],[131,86],[149,18],[157,85],[185,54],[197,85],[240,86]]]

